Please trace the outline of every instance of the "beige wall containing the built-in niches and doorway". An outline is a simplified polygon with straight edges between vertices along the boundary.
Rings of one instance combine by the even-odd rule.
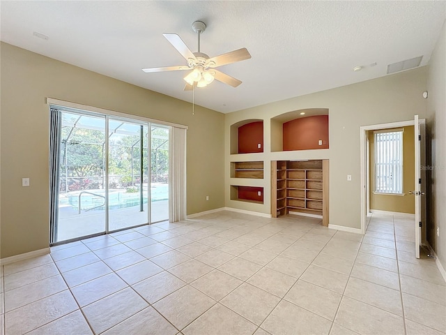
[[[360,126],[407,121],[415,114],[424,118],[426,101],[426,67],[387,75],[375,80],[351,84],[337,89],[278,101],[225,115],[225,199],[226,206],[270,214],[269,161],[290,159],[330,160],[330,224],[360,228]],[[270,119],[279,114],[307,108],[328,108],[330,116],[330,149],[271,152]],[[261,154],[229,154],[231,124],[243,119],[263,119],[264,152]],[[271,136],[273,135],[273,136]],[[265,179],[230,178],[231,161],[265,161]],[[352,181],[347,181],[347,174]],[[263,186],[264,204],[247,204],[231,200],[229,185]]]

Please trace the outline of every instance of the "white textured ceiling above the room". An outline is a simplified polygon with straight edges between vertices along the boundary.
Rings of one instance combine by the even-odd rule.
[[[196,104],[226,113],[382,77],[413,57],[428,64],[446,1],[1,1],[0,10],[6,43],[190,102],[187,72],[141,68],[185,65],[162,33],[196,52],[191,26],[201,20],[201,52],[252,54],[219,68],[239,87],[195,90]]]

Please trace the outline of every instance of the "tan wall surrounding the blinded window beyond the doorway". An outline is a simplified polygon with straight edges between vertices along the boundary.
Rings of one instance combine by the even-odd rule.
[[[403,127],[403,193],[405,195],[374,194],[374,132],[369,131],[370,141],[370,209],[415,214],[415,132],[413,126]]]

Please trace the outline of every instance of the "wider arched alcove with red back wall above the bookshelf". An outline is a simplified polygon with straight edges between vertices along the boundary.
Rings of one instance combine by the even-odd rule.
[[[328,149],[329,128],[328,108],[277,115],[271,119],[271,151]]]

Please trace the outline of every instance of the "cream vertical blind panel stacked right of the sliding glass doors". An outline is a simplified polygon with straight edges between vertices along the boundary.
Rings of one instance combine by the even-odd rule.
[[[186,218],[186,129],[172,127],[169,140],[169,221]]]

